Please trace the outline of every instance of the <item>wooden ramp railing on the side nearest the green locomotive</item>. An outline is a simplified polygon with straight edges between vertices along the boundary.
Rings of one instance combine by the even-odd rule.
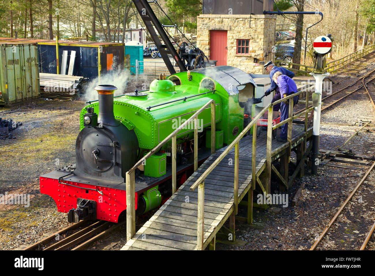
[[[197,112],[193,114],[187,121],[181,124],[176,130],[169,134],[162,142],[155,148],[149,151],[143,158],[141,158],[129,171],[126,172],[126,241],[130,240],[135,234],[135,169],[139,165],[145,164],[147,158],[158,152],[169,140],[172,139],[172,194],[177,189],[177,175],[176,175],[176,149],[177,149],[177,134],[188,124],[194,124],[194,171],[198,169],[198,115],[207,107],[211,106],[211,154],[215,153],[215,101],[210,100],[202,106]]]

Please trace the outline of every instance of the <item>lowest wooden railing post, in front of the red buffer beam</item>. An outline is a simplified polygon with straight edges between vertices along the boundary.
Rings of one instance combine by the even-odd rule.
[[[135,234],[135,175],[126,173],[126,241]]]

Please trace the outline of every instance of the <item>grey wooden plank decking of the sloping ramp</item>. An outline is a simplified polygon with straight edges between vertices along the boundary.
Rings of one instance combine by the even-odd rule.
[[[293,124],[292,147],[300,143],[304,125]],[[311,129],[308,130],[311,135]],[[266,137],[263,131],[257,138],[257,175],[266,166]],[[273,159],[288,143],[272,140]],[[197,241],[198,191],[190,186],[225,150],[222,148],[193,173],[192,176],[165,202],[121,250],[194,250]],[[251,188],[252,136],[240,140],[238,201]],[[204,247],[212,240],[233,213],[234,202],[234,149],[207,176],[204,184]]]

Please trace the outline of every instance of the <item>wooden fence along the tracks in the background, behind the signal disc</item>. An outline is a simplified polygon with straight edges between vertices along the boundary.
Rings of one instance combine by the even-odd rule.
[[[362,50],[358,50],[356,52],[348,54],[347,56],[342,57],[340,59],[336,59],[336,60],[333,60],[331,62],[328,62],[326,64],[327,67],[325,68],[325,70],[327,72],[336,72],[339,69],[347,66],[349,63],[351,63],[351,62],[353,62],[357,59],[360,59],[361,57],[366,56],[367,54],[372,53],[373,51],[375,51],[375,44],[367,46],[367,47],[363,48]],[[284,64],[287,65],[285,67],[287,67],[288,69],[290,69],[292,71],[303,72],[305,74],[308,74],[308,73],[314,71],[314,66],[309,66],[309,65],[299,64],[299,63],[293,63],[293,62],[287,62],[287,61],[279,60],[279,59],[275,60],[274,63],[275,63],[276,66],[280,66],[280,64],[284,63]],[[293,65],[300,66],[300,68],[302,67],[304,69],[303,70],[294,69],[294,68],[292,68]]]

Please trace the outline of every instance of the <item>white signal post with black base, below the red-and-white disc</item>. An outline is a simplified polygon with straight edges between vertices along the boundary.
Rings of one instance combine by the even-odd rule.
[[[319,94],[318,106],[314,107],[314,125],[312,128],[312,154],[313,154],[313,164],[312,164],[312,174],[318,175],[318,164],[319,164],[319,134],[320,134],[320,111],[322,107],[322,91],[323,91],[323,80],[325,77],[330,75],[330,73],[324,74],[314,74],[310,73],[315,78],[315,92]]]

